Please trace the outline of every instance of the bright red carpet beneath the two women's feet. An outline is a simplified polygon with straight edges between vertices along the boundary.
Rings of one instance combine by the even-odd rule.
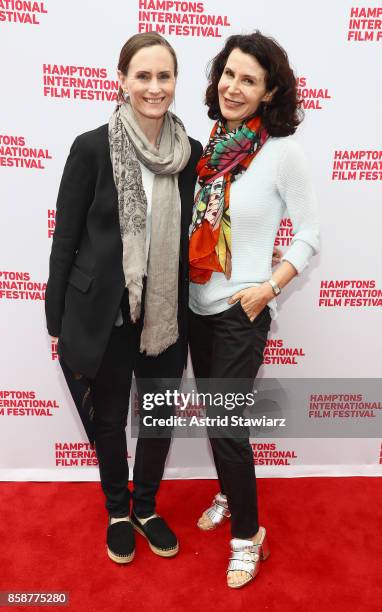
[[[213,481],[163,483],[158,511],[176,530],[180,553],[157,557],[137,535],[129,566],[106,556],[98,484],[0,483],[0,591],[68,591],[61,609],[81,612],[380,612],[381,479],[258,482],[271,556],[235,591],[225,584],[228,525],[209,533],[195,526]]]

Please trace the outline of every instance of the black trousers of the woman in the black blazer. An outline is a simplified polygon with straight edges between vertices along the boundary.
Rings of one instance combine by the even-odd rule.
[[[121,310],[123,325],[113,328],[101,366],[95,379],[90,381],[101,485],[106,496],[106,508],[113,517],[126,516],[130,512],[125,428],[132,373],[134,372],[137,379],[141,409],[142,386],[139,379],[142,382],[144,380],[145,391],[165,391],[168,381],[162,389],[158,388],[158,379],[177,379],[178,386],[183,372],[183,354],[179,340],[157,357],[140,353],[142,318],[136,324],[131,322],[126,291]],[[150,379],[154,380],[150,383]],[[169,416],[173,407],[167,405],[158,410],[160,413],[157,413],[157,416]],[[134,512],[141,518],[155,512],[155,495],[163,476],[170,441],[168,431],[165,437],[142,436],[137,440],[132,498]]]

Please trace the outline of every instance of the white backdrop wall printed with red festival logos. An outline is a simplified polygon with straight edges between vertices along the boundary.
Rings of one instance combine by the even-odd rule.
[[[180,63],[175,112],[205,143],[207,62],[227,36],[255,28],[286,48],[299,78],[306,119],[296,138],[323,235],[321,255],[280,299],[261,377],[348,380],[341,397],[319,396],[312,382],[299,409],[317,427],[378,420],[382,397],[356,379],[381,369],[382,4],[0,0],[0,479],[98,478],[43,300],[65,159],[76,135],[108,121],[120,48],[138,31],[168,37]],[[285,219],[281,248],[291,232]],[[128,448],[133,460],[130,436]],[[254,439],[253,449],[260,476],[382,474],[378,427],[369,438]],[[206,440],[176,439],[166,476],[213,477]]]

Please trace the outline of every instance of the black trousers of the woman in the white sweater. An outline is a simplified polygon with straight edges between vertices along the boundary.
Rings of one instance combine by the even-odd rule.
[[[247,393],[252,390],[271,323],[269,308],[253,323],[240,302],[216,315],[200,316],[190,311],[190,349],[198,391]],[[209,379],[209,384],[206,380]],[[235,384],[234,379],[237,380]],[[203,389],[201,389],[203,386]],[[235,406],[231,414],[241,415],[244,407]],[[224,410],[220,410],[222,414]],[[216,409],[214,411],[216,414]],[[233,428],[209,429],[210,443],[222,493],[231,512],[231,532],[247,539],[259,529],[256,477],[249,432]],[[216,436],[216,437],[215,437]]]

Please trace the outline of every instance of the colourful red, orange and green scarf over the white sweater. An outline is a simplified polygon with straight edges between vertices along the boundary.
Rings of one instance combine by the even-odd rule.
[[[200,189],[190,228],[190,279],[203,285],[212,272],[231,277],[231,183],[244,174],[268,138],[259,117],[227,132],[217,121],[197,165]]]

